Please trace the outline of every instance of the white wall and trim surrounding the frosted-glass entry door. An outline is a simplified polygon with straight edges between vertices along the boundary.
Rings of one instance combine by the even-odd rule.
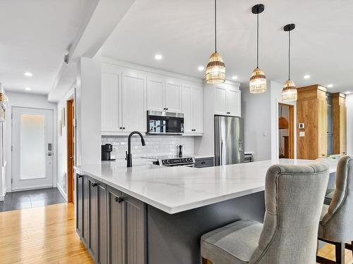
[[[12,126],[11,126],[11,115],[12,108],[14,106],[18,107],[28,107],[28,108],[42,108],[42,109],[51,109],[53,110],[53,149],[54,155],[56,155],[56,104],[49,103],[47,101],[47,96],[42,94],[30,94],[30,93],[19,93],[19,92],[6,92],[6,96],[8,96],[7,103],[7,128],[6,128],[6,149],[7,149],[7,165],[6,165],[6,187],[7,191],[11,191],[11,144],[12,144]],[[53,186],[56,187],[56,158],[54,158],[53,164]]]

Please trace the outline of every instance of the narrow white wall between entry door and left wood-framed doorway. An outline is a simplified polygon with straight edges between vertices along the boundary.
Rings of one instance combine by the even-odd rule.
[[[62,128],[62,136],[57,136],[57,187],[67,201],[67,100],[74,95],[74,88],[57,103],[57,120],[61,118],[61,110],[65,108],[66,125]]]

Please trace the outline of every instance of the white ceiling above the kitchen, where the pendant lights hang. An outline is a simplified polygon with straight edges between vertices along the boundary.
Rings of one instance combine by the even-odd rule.
[[[232,75],[246,84],[256,67],[256,15],[249,0],[219,0],[218,51]],[[268,80],[287,79],[287,34],[292,32],[292,80],[297,86],[322,84],[331,92],[353,92],[352,0],[263,0],[260,67]],[[203,77],[214,49],[213,0],[136,0],[107,39],[102,55],[122,61]],[[154,55],[163,55],[155,61]],[[309,74],[311,79],[304,80]]]

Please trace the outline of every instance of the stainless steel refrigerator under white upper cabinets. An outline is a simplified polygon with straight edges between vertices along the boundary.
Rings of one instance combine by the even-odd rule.
[[[244,162],[243,118],[215,115],[215,165]]]

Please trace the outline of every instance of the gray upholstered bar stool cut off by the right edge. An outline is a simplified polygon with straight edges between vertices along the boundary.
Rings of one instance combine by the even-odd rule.
[[[333,200],[330,206],[323,206],[318,239],[336,249],[336,261],[317,256],[318,263],[345,263],[345,248],[352,251],[352,244],[346,242],[353,243],[353,157],[343,156],[338,161]]]

